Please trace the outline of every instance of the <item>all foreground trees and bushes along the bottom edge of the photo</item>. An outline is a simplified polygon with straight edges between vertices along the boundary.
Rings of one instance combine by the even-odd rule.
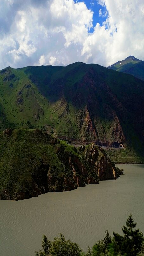
[[[144,236],[139,229],[135,229],[136,223],[129,215],[126,226],[123,226],[123,236],[113,232],[113,238],[108,230],[103,239],[96,242],[92,250],[88,247],[86,256],[140,256],[144,255]],[[82,256],[79,245],[66,241],[60,234],[54,241],[49,241],[45,235],[42,240],[42,250],[36,252],[36,256]]]

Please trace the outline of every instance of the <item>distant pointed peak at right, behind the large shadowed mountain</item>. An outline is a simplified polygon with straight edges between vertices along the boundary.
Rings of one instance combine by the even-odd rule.
[[[144,81],[144,61],[136,59],[134,56],[130,55],[126,59],[118,61],[108,68],[131,74]]]

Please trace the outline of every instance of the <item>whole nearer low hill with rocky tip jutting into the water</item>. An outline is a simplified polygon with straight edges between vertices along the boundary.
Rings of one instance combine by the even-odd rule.
[[[75,148],[41,130],[0,132],[0,199],[21,200],[119,177],[102,148]]]

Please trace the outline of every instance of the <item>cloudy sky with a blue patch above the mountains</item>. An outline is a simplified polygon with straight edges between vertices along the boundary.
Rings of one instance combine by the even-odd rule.
[[[0,70],[144,60],[144,0],[0,0]]]

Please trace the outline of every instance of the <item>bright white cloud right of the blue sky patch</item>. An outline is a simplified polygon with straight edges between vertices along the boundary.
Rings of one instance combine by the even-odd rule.
[[[144,2],[105,0],[100,3],[106,6],[109,16],[104,26],[96,24],[83,44],[82,54],[90,56],[87,61],[108,66],[129,55],[143,60]]]

